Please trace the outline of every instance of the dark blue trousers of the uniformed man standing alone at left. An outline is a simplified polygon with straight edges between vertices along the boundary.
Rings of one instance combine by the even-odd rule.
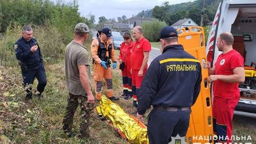
[[[37,85],[38,92],[40,93],[44,92],[44,88],[47,84],[44,65],[28,68],[28,70],[26,70],[25,72],[22,71],[23,86],[26,86],[27,84],[33,84],[35,77],[38,80],[38,85]],[[28,94],[32,94],[31,92],[32,88],[29,88],[29,89],[30,90],[26,90],[26,92]]]

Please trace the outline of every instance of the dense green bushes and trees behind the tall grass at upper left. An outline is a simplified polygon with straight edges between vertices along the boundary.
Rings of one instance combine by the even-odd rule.
[[[61,41],[68,44],[72,40],[74,26],[84,22],[89,26],[90,21],[80,17],[78,7],[72,4],[56,3],[44,0],[10,0],[0,1],[0,33],[5,32],[8,26],[19,24],[41,26],[42,29],[52,27],[58,31]],[[54,33],[52,33],[54,34]]]

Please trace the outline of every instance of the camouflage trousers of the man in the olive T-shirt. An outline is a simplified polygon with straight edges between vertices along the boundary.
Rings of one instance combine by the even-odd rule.
[[[84,95],[72,95],[72,93],[68,93],[68,104],[65,116],[63,117],[63,131],[65,134],[68,135],[72,133],[73,118],[77,106],[79,105],[81,108],[80,136],[81,138],[89,138],[90,118],[92,118],[93,104],[88,104],[86,100],[87,97]]]

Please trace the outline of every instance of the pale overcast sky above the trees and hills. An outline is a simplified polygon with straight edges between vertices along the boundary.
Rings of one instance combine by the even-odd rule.
[[[84,17],[95,15],[96,22],[101,16],[106,19],[122,17],[127,18],[137,15],[142,10],[150,10],[154,6],[162,6],[164,1],[170,4],[184,3],[195,0],[79,0],[79,12]]]

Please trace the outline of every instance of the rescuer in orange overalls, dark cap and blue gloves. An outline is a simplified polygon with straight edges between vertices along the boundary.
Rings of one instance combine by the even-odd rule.
[[[112,36],[111,30],[109,28],[104,28],[100,32],[99,37],[93,40],[91,47],[96,99],[100,100],[101,98],[102,81],[104,78],[107,88],[107,97],[110,100],[119,100],[118,97],[113,97],[112,90],[112,74],[110,65],[112,64],[113,69],[116,68],[116,58],[113,43],[110,38]]]

